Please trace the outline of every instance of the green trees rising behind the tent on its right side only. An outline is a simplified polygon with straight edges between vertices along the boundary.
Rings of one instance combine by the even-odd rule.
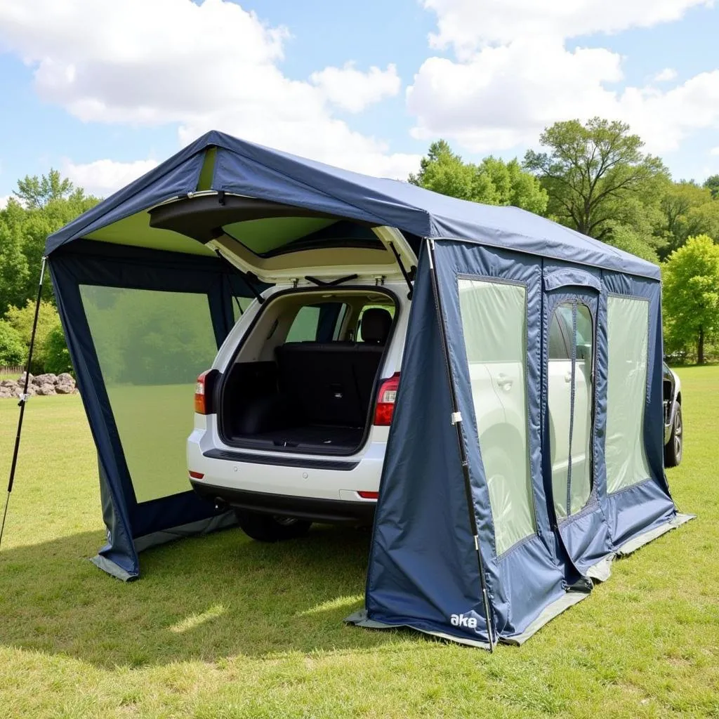
[[[523,161],[464,162],[433,142],[409,182],[490,205],[514,205],[661,266],[664,349],[719,359],[719,175],[672,180],[622,122],[557,122]]]

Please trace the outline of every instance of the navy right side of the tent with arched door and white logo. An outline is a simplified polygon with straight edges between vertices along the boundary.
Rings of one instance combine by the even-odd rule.
[[[677,521],[662,461],[660,285],[653,280],[453,240],[434,242],[434,258],[443,309],[439,321],[449,337],[449,357],[441,352],[438,315],[429,287],[432,270],[425,253],[416,280],[403,382],[380,487],[370,550],[367,617],[360,623],[406,625],[457,641],[487,642],[477,564],[471,556],[474,538],[464,515],[470,511],[477,523],[495,636],[503,641],[523,641],[586,595],[592,567],[613,557],[627,543],[645,541],[643,538],[654,536],[656,528],[669,528]],[[626,316],[610,317],[612,298],[641,301],[646,309],[644,341],[641,327],[633,326],[631,331],[639,334],[636,342],[628,350],[622,349],[627,343],[621,338],[618,345],[631,357],[620,352],[618,360],[613,359],[616,349],[610,351],[610,334],[620,336],[626,331],[622,329]],[[520,309],[525,313],[524,336],[519,338],[524,340],[521,355],[514,349],[518,337],[513,334],[519,301],[524,303]],[[555,511],[553,493],[557,490],[552,485],[547,345],[554,310],[559,306],[573,308],[574,331],[580,305],[586,310],[582,317],[593,320],[592,395],[584,416],[577,409],[577,377],[580,370],[588,370],[582,365],[584,355],[577,354],[577,335],[572,340],[572,372],[566,381],[572,383],[572,413],[577,411],[574,421],[586,420],[587,411],[591,412],[586,457],[591,485],[582,487],[581,500],[572,504],[569,498],[570,510],[562,515]],[[582,345],[584,352],[587,348]],[[523,367],[518,357],[522,357]],[[614,384],[623,381],[618,379],[621,372],[610,374],[610,362],[616,361],[626,367],[624,375],[635,378],[631,380],[635,383],[635,406],[623,425],[620,415],[626,406],[608,407],[607,400],[610,380]],[[452,367],[461,413],[471,507],[467,507],[462,493],[446,362]],[[482,372],[494,381],[484,380]],[[512,372],[516,374],[508,377]],[[519,413],[526,422],[526,432],[514,440],[505,435],[493,444],[495,424],[509,416],[507,398],[518,382],[524,385],[524,395],[517,395],[516,402],[526,402],[526,413]],[[502,395],[505,414],[488,421],[492,402],[486,390],[490,385]],[[623,385],[612,389],[619,394],[627,391]],[[635,480],[617,491],[608,491],[608,486],[616,488],[617,480],[615,466],[610,463],[613,474],[608,482],[605,459],[607,418],[612,412],[620,431],[611,441],[619,443],[622,457],[626,459],[637,444],[644,453],[640,456],[646,457],[645,464],[633,465],[633,471],[638,472]],[[584,470],[571,459],[572,451],[577,452],[572,435],[555,437],[554,441],[567,443],[568,466],[572,468],[568,471],[573,471],[580,483],[585,482]],[[504,475],[496,469],[493,455],[499,444],[510,446],[508,454],[521,457]],[[423,447],[423,452],[416,452],[416,447]],[[504,490],[509,487],[505,495],[493,487],[498,476]],[[523,506],[525,481],[531,525]],[[564,493],[571,487],[568,479]],[[513,524],[508,532],[507,527]],[[438,567],[443,567],[439,574]],[[476,621],[470,624],[467,618]]]

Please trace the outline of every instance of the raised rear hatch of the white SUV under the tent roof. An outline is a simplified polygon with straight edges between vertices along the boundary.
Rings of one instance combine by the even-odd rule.
[[[196,239],[265,283],[409,283],[417,264],[419,238],[393,227],[227,193],[163,203],[150,225]]]

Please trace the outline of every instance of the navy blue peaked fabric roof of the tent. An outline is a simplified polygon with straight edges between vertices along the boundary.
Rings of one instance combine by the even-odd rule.
[[[659,267],[516,207],[457,200],[208,132],[157,168],[47,238],[46,254],[75,239],[211,254],[202,244],[150,226],[147,210],[197,192],[234,193],[397,227],[419,237],[459,239],[659,280]],[[275,220],[276,221],[276,220]],[[303,226],[299,224],[298,226]]]

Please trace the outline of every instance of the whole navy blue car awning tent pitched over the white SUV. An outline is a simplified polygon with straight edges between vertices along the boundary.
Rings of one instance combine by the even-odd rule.
[[[188,491],[190,388],[262,286],[207,246],[223,231],[152,221],[173,203],[263,237],[278,217],[285,239],[308,217],[391,226],[417,250],[356,623],[523,641],[617,554],[686,519],[663,467],[658,267],[520,209],[209,132],[47,239],[98,450],[108,539],[94,561],[106,572],[137,577],[147,546],[231,521]],[[558,318],[572,388],[561,432],[549,377]],[[482,412],[487,377],[516,395],[509,434]]]

